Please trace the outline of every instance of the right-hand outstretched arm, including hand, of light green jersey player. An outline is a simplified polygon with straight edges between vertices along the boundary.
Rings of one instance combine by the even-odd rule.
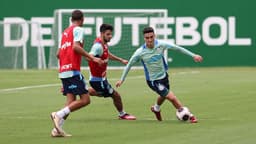
[[[191,52],[191,51],[189,51],[189,50],[187,50],[187,49],[185,49],[185,48],[183,48],[181,46],[178,46],[178,45],[175,45],[175,44],[166,44],[166,46],[167,46],[168,49],[177,50],[177,51],[179,51],[179,52],[181,52],[181,53],[183,53],[185,55],[193,57],[195,62],[203,61],[203,57],[202,56],[200,56],[198,54],[195,54],[195,53],[193,53],[193,52]]]

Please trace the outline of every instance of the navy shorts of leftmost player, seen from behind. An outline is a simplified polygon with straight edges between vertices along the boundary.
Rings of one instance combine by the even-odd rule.
[[[79,74],[70,78],[61,78],[63,86],[63,95],[68,93],[74,95],[87,94],[88,90],[83,75]]]

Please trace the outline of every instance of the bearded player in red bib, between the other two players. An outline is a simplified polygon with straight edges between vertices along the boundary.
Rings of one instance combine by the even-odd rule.
[[[107,80],[108,60],[119,61],[127,64],[128,61],[112,54],[108,49],[108,42],[112,38],[113,26],[102,24],[100,26],[100,37],[96,38],[91,48],[90,54],[94,57],[102,59],[105,63],[99,65],[96,62],[89,61],[90,68],[90,85],[89,94],[91,96],[111,97],[113,103],[119,112],[119,119],[135,120],[136,117],[126,113],[123,109],[123,103],[120,94],[112,88]]]

